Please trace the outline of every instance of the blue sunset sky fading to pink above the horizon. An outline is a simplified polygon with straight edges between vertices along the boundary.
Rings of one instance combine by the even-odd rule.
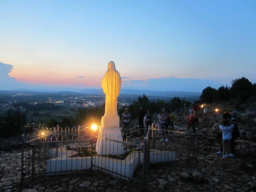
[[[256,1],[0,1],[0,29],[23,83],[100,88],[109,61],[128,82],[256,82]]]

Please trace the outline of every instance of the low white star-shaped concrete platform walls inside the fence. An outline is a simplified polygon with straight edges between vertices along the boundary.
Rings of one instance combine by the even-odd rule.
[[[132,153],[125,160],[113,159],[103,156],[93,156],[93,169],[101,170],[113,177],[129,180],[135,174],[139,164],[143,164],[144,153]],[[150,150],[150,162],[168,162],[174,161],[175,152]],[[47,161],[47,173],[71,172],[77,170],[86,170],[91,168],[91,157],[57,157]]]

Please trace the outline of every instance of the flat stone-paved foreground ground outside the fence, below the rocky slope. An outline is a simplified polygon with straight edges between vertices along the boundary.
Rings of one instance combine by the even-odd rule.
[[[1,191],[256,191],[254,166],[240,159],[221,162],[214,153],[199,154],[195,163],[152,165],[142,190],[135,181],[115,179],[99,172],[25,180],[20,186],[20,150],[1,152]],[[136,177],[141,178],[141,171]],[[140,183],[141,184],[141,183]]]

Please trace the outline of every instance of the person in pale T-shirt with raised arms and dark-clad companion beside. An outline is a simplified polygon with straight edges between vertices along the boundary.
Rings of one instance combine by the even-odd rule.
[[[224,112],[222,120],[218,122],[218,125],[222,131],[222,142],[220,144],[220,151],[216,154],[222,155],[220,160],[225,160],[227,157],[234,157],[235,140],[240,136],[236,119],[232,118],[230,113]],[[220,136],[220,135],[219,135]]]

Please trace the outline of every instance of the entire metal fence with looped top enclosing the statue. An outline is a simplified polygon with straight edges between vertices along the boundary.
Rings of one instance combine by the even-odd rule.
[[[135,132],[140,129],[133,127]],[[197,132],[192,129],[160,129],[152,124],[144,133],[143,139],[133,135],[123,140],[123,135],[100,135],[88,124],[64,129],[35,127],[33,135],[22,136],[21,182],[28,177],[92,170],[130,180],[142,164],[139,180],[144,183],[150,164],[197,161]]]

